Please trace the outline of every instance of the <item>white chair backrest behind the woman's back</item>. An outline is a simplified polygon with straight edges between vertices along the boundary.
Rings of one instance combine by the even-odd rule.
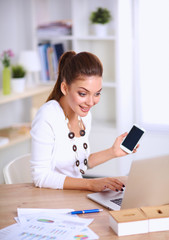
[[[9,162],[3,169],[6,184],[31,183],[30,169],[31,154],[20,156]]]

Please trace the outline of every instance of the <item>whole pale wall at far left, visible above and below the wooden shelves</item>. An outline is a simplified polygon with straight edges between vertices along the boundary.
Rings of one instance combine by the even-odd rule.
[[[0,54],[4,50],[12,49],[15,54],[12,59],[14,64],[17,62],[20,51],[31,48],[31,1],[1,0]],[[0,64],[0,88],[2,88],[2,64]],[[25,99],[0,105],[0,128],[29,121],[30,104],[30,99]],[[26,114],[23,115],[23,112]],[[17,147],[13,146],[0,151],[0,183],[4,182],[2,175],[4,165],[18,155],[30,152],[29,141],[18,144]]]

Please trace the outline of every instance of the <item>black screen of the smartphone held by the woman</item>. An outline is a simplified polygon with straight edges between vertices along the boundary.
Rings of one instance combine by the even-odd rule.
[[[133,126],[127,137],[124,139],[122,145],[128,148],[130,151],[133,151],[134,147],[137,145],[143,133],[143,130],[136,126]]]

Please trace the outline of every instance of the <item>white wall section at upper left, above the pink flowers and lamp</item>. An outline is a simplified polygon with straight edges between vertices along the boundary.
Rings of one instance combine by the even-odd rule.
[[[0,52],[12,49],[14,60],[23,49],[32,47],[31,33],[31,1],[0,1]]]

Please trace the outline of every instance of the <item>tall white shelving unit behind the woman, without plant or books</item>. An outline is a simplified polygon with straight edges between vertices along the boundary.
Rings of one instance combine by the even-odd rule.
[[[102,96],[92,109],[91,150],[110,147],[115,137],[127,131],[133,121],[130,0],[125,0],[125,3],[123,0],[36,0],[32,4],[35,47],[43,41],[52,44],[62,42],[65,50],[92,52],[103,63]],[[108,8],[113,16],[108,35],[104,37],[93,34],[89,21],[90,13],[97,7]],[[38,24],[65,19],[72,20],[72,35],[36,34]]]

